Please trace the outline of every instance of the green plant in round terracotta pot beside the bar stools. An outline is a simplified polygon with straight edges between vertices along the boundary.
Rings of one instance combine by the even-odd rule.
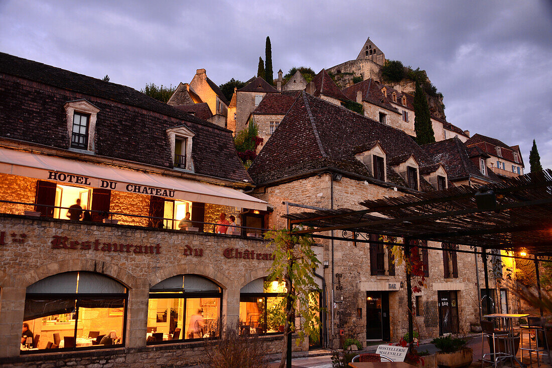
[[[440,350],[436,353],[437,366],[440,368],[467,367],[473,361],[473,350],[466,348],[466,339],[448,335],[433,339],[431,343]]]

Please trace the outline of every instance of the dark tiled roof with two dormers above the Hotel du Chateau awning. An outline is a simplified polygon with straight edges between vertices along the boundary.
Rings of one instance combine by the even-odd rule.
[[[0,137],[68,148],[63,105],[87,99],[98,106],[95,153],[172,169],[166,130],[195,133],[195,172],[251,180],[237,157],[230,130],[158,102],[130,87],[0,53]]]

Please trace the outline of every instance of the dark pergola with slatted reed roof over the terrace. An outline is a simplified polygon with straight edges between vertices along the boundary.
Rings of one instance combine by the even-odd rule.
[[[360,205],[366,208],[319,210],[284,217],[288,219],[290,229],[304,226],[296,231],[298,234],[361,244],[401,246],[406,255],[410,252],[412,239],[470,246],[470,250],[457,252],[481,254],[487,290],[487,249],[530,253],[534,256],[540,298],[538,259],[540,256],[552,256],[552,170],[508,178],[500,184],[487,184],[479,188],[459,186],[431,193],[366,200]],[[330,231],[331,235],[321,234]],[[336,231],[341,232],[341,236],[334,236]],[[373,241],[367,234],[400,237],[404,238],[404,242]],[[477,247],[481,248],[480,252]],[[427,246],[420,248],[442,250]],[[412,311],[411,274],[408,269],[406,284],[408,310]],[[412,329],[412,314],[409,313],[411,339]]]

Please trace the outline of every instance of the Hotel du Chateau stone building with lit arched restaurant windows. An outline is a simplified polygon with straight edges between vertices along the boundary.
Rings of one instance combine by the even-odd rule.
[[[231,131],[7,54],[0,111],[0,365],[195,365],[221,320],[278,351],[267,203]]]

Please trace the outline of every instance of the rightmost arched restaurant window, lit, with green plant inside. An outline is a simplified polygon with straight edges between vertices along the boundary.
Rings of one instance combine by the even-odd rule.
[[[277,334],[284,332],[284,282],[260,278],[240,291],[240,334]]]

